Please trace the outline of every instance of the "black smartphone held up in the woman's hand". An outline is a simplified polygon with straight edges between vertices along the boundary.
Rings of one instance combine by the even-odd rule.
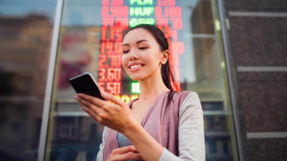
[[[100,95],[100,89],[97,82],[89,72],[70,78],[70,83],[77,93],[84,93],[105,100]]]

